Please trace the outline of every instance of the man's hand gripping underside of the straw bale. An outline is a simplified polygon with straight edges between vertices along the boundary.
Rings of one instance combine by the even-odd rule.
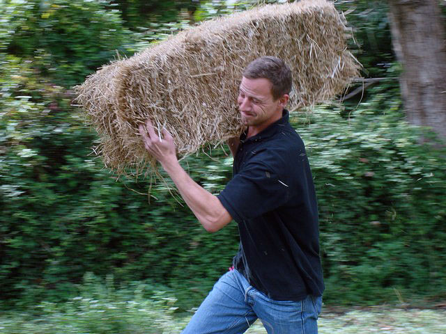
[[[160,164],[164,168],[164,164],[176,161],[175,143],[174,138],[169,134],[167,129],[162,129],[162,132],[155,133],[155,127],[153,127],[150,120],[146,120],[146,124],[139,125],[139,134],[141,134],[144,147],[148,152],[160,161]]]

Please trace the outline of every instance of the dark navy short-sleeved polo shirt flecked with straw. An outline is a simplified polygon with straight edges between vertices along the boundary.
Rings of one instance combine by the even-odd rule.
[[[233,178],[217,196],[238,223],[234,267],[275,300],[321,296],[318,207],[305,145],[289,113],[240,136]]]

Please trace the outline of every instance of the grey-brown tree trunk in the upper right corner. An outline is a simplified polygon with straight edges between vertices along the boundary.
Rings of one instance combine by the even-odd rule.
[[[446,139],[446,41],[438,0],[388,2],[408,122]]]

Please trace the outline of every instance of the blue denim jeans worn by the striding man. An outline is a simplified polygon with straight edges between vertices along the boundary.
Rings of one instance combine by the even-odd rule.
[[[322,297],[275,301],[255,289],[237,271],[215,283],[183,334],[241,334],[259,318],[268,334],[316,334]]]

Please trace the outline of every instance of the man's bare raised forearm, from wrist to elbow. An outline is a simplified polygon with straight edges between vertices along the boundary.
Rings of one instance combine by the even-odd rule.
[[[231,216],[220,200],[194,182],[178,160],[165,161],[162,167],[176,184],[187,206],[208,232],[216,232],[231,221]]]

